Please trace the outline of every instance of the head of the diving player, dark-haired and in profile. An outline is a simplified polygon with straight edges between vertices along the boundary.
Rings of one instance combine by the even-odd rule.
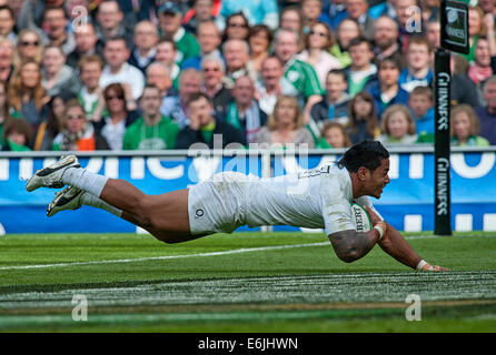
[[[353,145],[337,162],[351,175],[354,196],[380,197],[389,183],[389,152],[378,141],[363,141]]]

